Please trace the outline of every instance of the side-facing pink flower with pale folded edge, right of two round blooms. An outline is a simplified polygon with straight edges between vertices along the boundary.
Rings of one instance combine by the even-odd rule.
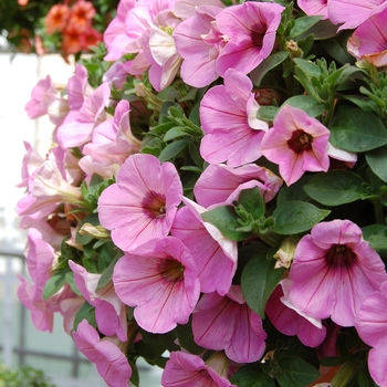
[[[208,209],[187,198],[184,198],[184,202],[186,207],[178,210],[170,232],[191,252],[200,291],[217,291],[224,295],[237,270],[237,242],[224,238],[215,226],[202,221],[200,213]]]

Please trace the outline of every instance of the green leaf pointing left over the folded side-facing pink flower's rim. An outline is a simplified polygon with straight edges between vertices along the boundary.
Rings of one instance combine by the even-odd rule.
[[[218,207],[206,211],[201,213],[201,219],[205,222],[213,224],[223,237],[232,241],[243,241],[252,236],[251,232],[237,231],[241,224],[238,221],[239,217],[232,206]]]

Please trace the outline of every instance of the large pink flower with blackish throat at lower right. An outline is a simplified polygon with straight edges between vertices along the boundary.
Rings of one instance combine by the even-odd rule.
[[[292,304],[303,314],[353,326],[363,300],[387,280],[380,257],[349,220],[313,227],[294,253],[289,278]]]

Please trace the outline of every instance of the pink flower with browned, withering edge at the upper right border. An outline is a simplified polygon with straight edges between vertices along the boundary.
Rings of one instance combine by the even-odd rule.
[[[362,23],[347,41],[348,53],[358,61],[366,60],[376,67],[387,65],[387,9]]]

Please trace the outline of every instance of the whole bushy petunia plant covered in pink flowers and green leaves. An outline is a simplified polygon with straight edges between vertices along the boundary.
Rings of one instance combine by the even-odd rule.
[[[112,387],[387,386],[386,9],[121,0],[25,106],[35,327]]]

